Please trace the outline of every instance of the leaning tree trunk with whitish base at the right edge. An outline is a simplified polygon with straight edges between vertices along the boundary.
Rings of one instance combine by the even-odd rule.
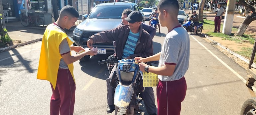
[[[245,30],[247,29],[247,27],[249,26],[249,24],[256,20],[256,17],[251,17],[251,16],[247,16],[244,21],[242,22],[242,24],[240,25],[240,27],[238,28],[236,34],[234,36],[241,36],[244,34]]]

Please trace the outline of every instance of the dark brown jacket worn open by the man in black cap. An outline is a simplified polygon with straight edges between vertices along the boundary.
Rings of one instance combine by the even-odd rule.
[[[94,43],[113,42],[115,41],[115,53],[119,60],[122,58],[123,49],[128,38],[130,29],[128,25],[119,26],[115,29],[101,31],[90,37]],[[134,57],[148,57],[153,54],[153,41],[147,31],[140,27],[140,36],[137,41],[135,51],[133,55],[130,55],[132,59]]]

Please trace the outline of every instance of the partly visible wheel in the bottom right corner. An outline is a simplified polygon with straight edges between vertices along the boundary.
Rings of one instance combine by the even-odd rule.
[[[244,102],[240,115],[256,115],[256,97],[251,97]]]

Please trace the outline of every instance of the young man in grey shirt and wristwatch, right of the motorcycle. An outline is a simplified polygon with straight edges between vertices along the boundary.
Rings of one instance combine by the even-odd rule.
[[[177,0],[160,0],[158,4],[159,22],[167,27],[168,33],[162,51],[146,58],[135,57],[140,70],[158,74],[157,86],[158,115],[180,115],[181,102],[187,91],[185,73],[189,68],[190,38],[186,29],[178,21]],[[158,67],[143,62],[158,61]]]

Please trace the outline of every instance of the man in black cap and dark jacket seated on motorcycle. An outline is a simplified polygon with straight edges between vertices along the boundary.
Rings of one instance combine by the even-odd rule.
[[[153,55],[153,41],[151,36],[144,29],[141,28],[142,14],[139,11],[131,12],[124,20],[128,21],[128,25],[118,26],[115,29],[101,31],[89,37],[87,40],[87,47],[92,48],[93,43],[113,42],[115,41],[115,54],[114,56],[120,59],[134,59],[136,56],[147,57]],[[114,65],[112,72],[115,71]],[[109,110],[107,113],[114,111],[115,106],[113,102],[114,88],[110,87],[110,79],[113,73],[109,75],[107,81],[108,104]],[[142,98],[146,105],[148,113],[156,111],[154,92],[152,87],[146,87],[142,92]],[[146,104],[149,103],[149,104]],[[147,107],[148,106],[148,107]],[[150,110],[154,108],[154,110]],[[149,113],[156,114],[156,113]]]

